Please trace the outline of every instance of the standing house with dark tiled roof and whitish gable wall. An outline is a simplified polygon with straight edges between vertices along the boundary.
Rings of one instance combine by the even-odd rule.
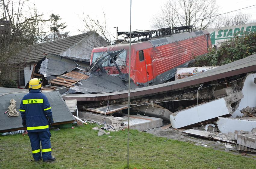
[[[56,41],[29,45],[26,48],[23,48],[17,55],[17,60],[13,61],[13,63],[17,64],[25,63],[25,66],[17,72],[24,72],[24,78],[12,76],[12,79],[17,81],[19,86],[23,84],[26,85],[27,82],[30,81],[34,64],[45,57],[44,53],[58,54],[61,56],[72,57],[77,60],[84,60],[87,61],[89,66],[89,58],[91,56],[92,48],[99,47],[104,44],[107,45],[107,42],[104,41],[96,32],[86,32]]]

